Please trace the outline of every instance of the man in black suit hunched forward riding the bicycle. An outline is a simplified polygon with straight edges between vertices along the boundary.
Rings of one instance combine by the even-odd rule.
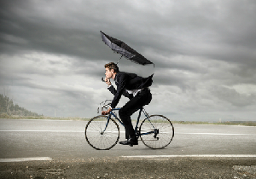
[[[102,111],[102,115],[107,115],[111,110],[116,107],[119,103],[121,95],[128,97],[128,101],[124,107],[119,110],[119,117],[125,125],[125,138],[126,141],[120,141],[123,145],[137,145],[137,137],[135,130],[131,124],[131,115],[135,113],[138,109],[145,105],[148,105],[152,100],[152,95],[148,87],[152,84],[153,75],[148,78],[142,78],[134,73],[119,72],[119,67],[111,62],[105,65],[105,81],[108,84],[108,90],[114,95],[111,107],[108,111]],[[110,78],[115,81],[117,85],[117,90],[113,87],[110,82]]]

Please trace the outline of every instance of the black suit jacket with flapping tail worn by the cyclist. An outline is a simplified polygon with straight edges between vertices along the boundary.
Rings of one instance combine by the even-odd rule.
[[[112,86],[108,90],[114,95],[111,107],[114,108],[119,103],[121,95],[125,95],[129,99],[133,98],[132,94],[129,94],[126,90],[140,90],[151,86],[153,83],[153,75],[148,78],[137,76],[135,73],[118,72],[115,75],[114,81],[117,85],[117,90]]]

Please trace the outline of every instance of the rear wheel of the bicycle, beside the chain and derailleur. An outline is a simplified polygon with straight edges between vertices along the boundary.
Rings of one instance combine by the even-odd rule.
[[[145,146],[160,149],[171,143],[174,137],[174,127],[165,116],[151,115],[149,119],[143,120],[139,128],[139,135]]]

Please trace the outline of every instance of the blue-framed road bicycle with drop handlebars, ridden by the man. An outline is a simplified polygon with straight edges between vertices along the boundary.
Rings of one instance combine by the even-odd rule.
[[[97,108],[97,113],[99,113],[100,109],[102,109],[102,111],[108,109],[110,104],[111,100],[102,101],[100,107]],[[91,118],[86,124],[84,134],[90,147],[97,150],[109,150],[117,144],[120,134],[119,125],[112,117],[124,126],[115,113],[115,111],[119,109],[120,108],[114,108],[108,115],[99,115]],[[138,129],[142,112],[146,118],[143,119]],[[168,118],[163,115],[149,116],[144,108],[139,109],[135,132],[137,138],[140,137],[144,145],[153,149],[168,146],[174,137],[174,127]]]

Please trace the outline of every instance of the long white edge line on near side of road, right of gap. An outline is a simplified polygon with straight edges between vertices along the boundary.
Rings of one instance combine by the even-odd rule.
[[[206,154],[206,155],[134,155],[134,156],[121,156],[123,158],[256,158],[256,154]]]

